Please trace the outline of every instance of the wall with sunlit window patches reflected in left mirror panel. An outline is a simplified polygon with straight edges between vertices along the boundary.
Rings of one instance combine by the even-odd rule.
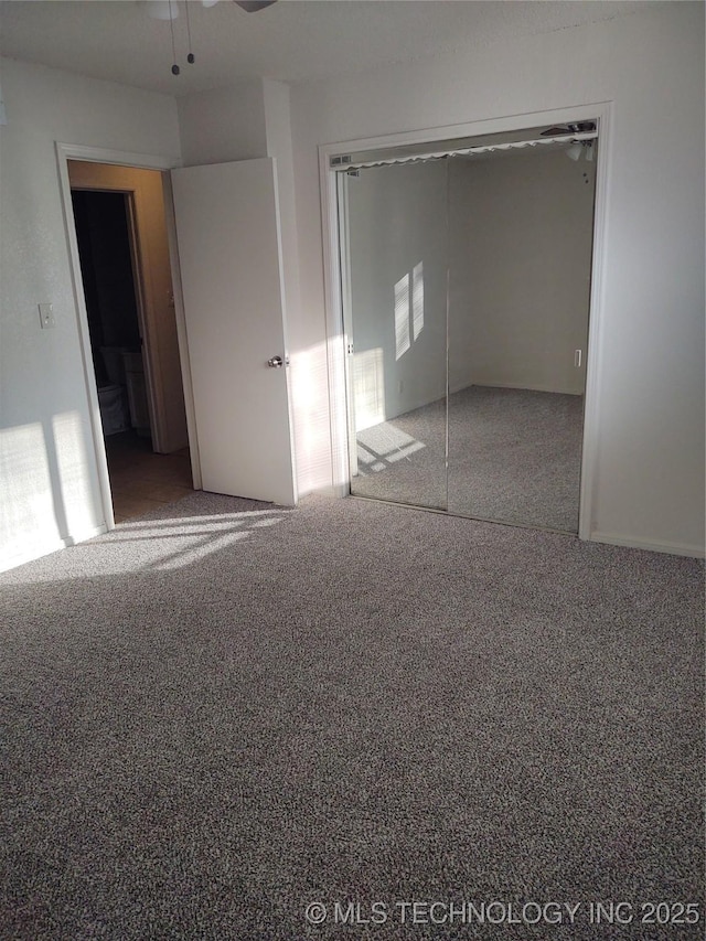
[[[447,167],[375,167],[346,189],[361,431],[446,393]]]

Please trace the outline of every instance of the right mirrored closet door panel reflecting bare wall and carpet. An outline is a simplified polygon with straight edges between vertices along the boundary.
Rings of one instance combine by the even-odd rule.
[[[577,532],[596,163],[568,156],[449,161],[448,509]]]

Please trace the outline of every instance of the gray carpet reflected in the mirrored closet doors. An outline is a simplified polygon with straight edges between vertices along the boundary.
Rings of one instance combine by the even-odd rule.
[[[578,531],[584,397],[469,386],[357,434],[357,496]]]

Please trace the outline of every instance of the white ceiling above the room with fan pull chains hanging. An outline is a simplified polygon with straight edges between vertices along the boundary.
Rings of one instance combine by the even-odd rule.
[[[231,0],[211,8],[190,0],[196,61],[188,65],[184,2],[173,3],[180,10],[174,22],[179,76],[171,74],[169,22],[150,19],[136,0],[3,0],[0,51],[179,96],[258,76],[301,82],[362,72],[625,15],[645,6],[614,0],[279,0],[246,13]]]

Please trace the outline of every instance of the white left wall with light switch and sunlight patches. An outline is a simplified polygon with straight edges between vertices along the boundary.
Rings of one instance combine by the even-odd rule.
[[[173,99],[3,60],[0,568],[104,523],[54,142],[179,159]],[[41,330],[38,303],[54,304]]]

